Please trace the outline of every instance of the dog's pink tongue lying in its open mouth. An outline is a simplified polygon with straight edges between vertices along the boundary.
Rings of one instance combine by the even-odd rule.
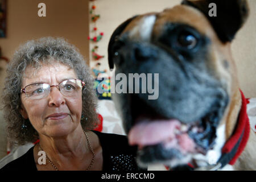
[[[167,121],[142,121],[135,125],[128,134],[131,145],[147,146],[175,138],[175,129],[181,126],[180,121],[170,119]]]

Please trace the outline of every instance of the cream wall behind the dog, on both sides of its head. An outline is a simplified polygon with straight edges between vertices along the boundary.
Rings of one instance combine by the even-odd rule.
[[[101,60],[101,70],[108,69],[108,42],[114,29],[126,19],[136,14],[162,11],[181,0],[97,0],[97,11],[101,18],[97,22],[98,30],[104,31],[104,38],[98,43],[98,53],[105,55]],[[238,32],[232,44],[232,53],[237,63],[238,78],[246,97],[256,97],[256,1],[249,0],[250,16],[245,26]],[[91,48],[91,47],[90,47]],[[94,67],[95,61],[90,61]]]

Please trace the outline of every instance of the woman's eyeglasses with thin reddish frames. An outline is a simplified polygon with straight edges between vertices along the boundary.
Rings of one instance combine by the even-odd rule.
[[[79,79],[64,80],[59,85],[49,85],[46,83],[36,83],[25,86],[20,93],[25,93],[26,97],[32,100],[39,100],[47,97],[52,86],[58,86],[60,93],[66,97],[76,97],[84,87],[85,82]]]

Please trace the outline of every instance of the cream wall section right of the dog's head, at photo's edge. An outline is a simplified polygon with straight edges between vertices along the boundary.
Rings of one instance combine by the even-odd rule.
[[[256,1],[249,0],[250,16],[232,44],[240,87],[245,97],[256,97]]]

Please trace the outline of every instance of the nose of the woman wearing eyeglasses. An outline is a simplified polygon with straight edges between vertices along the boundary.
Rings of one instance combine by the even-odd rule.
[[[61,104],[65,104],[65,98],[63,94],[60,93],[58,86],[52,86],[49,96],[49,106],[59,107]]]

